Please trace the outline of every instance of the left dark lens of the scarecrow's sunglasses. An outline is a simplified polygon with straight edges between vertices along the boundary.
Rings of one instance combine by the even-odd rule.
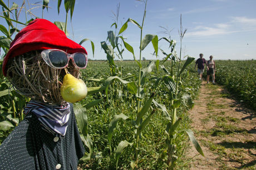
[[[67,55],[61,51],[51,51],[48,56],[52,65],[57,68],[62,68],[67,65]]]

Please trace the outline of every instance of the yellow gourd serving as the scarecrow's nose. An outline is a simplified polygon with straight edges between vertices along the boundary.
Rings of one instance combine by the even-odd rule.
[[[61,96],[67,102],[77,102],[85,98],[87,95],[86,84],[71,74],[66,74],[63,78],[61,86]]]

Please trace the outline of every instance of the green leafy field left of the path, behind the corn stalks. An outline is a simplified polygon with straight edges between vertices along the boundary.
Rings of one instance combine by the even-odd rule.
[[[146,66],[150,61],[143,61],[142,65]],[[120,61],[117,61],[118,66],[121,65]],[[122,74],[124,78],[129,76],[127,81],[136,80],[137,66],[134,61],[123,61],[122,63]],[[142,66],[142,67],[143,67]],[[170,61],[165,63],[165,68],[169,70],[171,66]],[[191,102],[196,98],[199,92],[200,80],[193,70],[193,66],[190,66],[190,71],[186,71],[183,75],[182,80],[183,84],[181,85],[179,91],[182,91],[183,94],[189,94],[191,96]],[[192,72],[192,73],[191,73]],[[82,79],[86,80],[88,87],[90,86],[101,86],[110,74],[109,65],[103,61],[91,61],[86,70],[82,72]],[[151,89],[154,89],[156,78],[165,75],[163,70],[156,70],[151,72],[149,81],[146,85],[146,89],[149,89],[148,94],[151,94]],[[95,79],[102,79],[102,81],[93,81]],[[165,85],[158,86],[156,91],[156,96],[154,100],[164,104],[166,107],[171,106],[171,100],[169,99],[168,87]],[[87,97],[82,101],[82,105],[86,105],[92,100],[101,99],[106,97],[105,94],[98,94],[95,96]],[[124,114],[135,119],[136,112],[134,107],[136,107],[135,96],[129,93],[126,85],[122,85],[118,81],[115,81],[114,84],[111,84],[108,90],[109,99],[105,99],[104,102],[92,107],[87,110],[88,117],[88,133],[93,138],[93,147],[95,152],[100,152],[102,157],[99,159],[94,158],[90,161],[90,168],[100,168],[100,169],[113,169],[115,168],[115,161],[111,158],[109,142],[107,140],[109,124],[115,115]],[[191,107],[186,105],[185,102],[181,103],[177,111],[177,116],[183,121],[181,122],[180,127],[177,129],[181,131],[183,129],[188,129],[190,125],[190,119],[187,114],[187,111]],[[133,117],[133,118],[132,118]],[[146,126],[144,132],[141,135],[140,140],[140,156],[139,164],[141,168],[145,169],[163,169],[166,167],[164,159],[166,156],[166,121],[162,111],[156,111],[152,116],[149,124]],[[118,122],[116,130],[111,139],[111,148],[115,148],[119,145],[120,141],[133,141],[134,138],[134,128],[131,125],[130,121],[121,120]],[[188,165],[189,160],[185,159],[186,149],[189,147],[188,136],[183,132],[178,133],[176,138],[176,147],[177,152],[176,156],[178,161],[176,162],[179,168],[185,168]],[[127,148],[127,150],[122,153],[122,156],[119,160],[119,168],[129,169],[130,163],[134,157],[135,148]],[[100,162],[99,162],[100,161]],[[86,165],[88,166],[88,165]]]

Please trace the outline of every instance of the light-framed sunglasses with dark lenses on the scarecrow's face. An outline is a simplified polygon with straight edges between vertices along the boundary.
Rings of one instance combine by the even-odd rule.
[[[41,52],[43,60],[54,69],[66,68],[70,59],[78,69],[85,69],[88,63],[85,53],[68,54],[58,49],[47,49]]]

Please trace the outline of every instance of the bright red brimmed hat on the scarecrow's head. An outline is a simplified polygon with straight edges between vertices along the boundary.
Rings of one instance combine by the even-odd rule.
[[[55,24],[46,19],[35,19],[14,38],[3,59],[3,75],[6,76],[7,61],[32,50],[60,49],[67,53],[86,53],[80,44],[68,39]]]

